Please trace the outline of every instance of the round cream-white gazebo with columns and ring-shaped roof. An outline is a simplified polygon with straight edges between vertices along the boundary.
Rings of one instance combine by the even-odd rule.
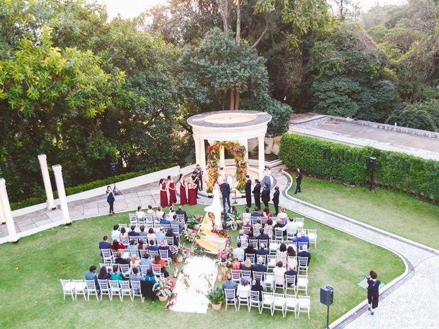
[[[246,147],[248,159],[248,140],[258,138],[258,174],[259,178],[262,178],[265,163],[264,138],[271,119],[272,116],[268,113],[246,110],[225,110],[193,115],[187,119],[187,122],[192,126],[196,162],[206,172],[204,140],[211,144],[236,141]],[[219,167],[224,167],[224,147],[219,152]]]

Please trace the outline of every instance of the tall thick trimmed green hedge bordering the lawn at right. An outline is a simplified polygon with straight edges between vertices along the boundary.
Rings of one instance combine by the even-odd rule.
[[[369,181],[366,163],[377,158],[375,183],[438,201],[439,162],[373,147],[350,147],[318,138],[283,134],[279,158],[289,168],[347,184]]]

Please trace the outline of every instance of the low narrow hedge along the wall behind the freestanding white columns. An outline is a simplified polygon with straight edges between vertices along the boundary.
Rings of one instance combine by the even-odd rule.
[[[136,178],[141,175],[146,175],[147,173],[154,173],[154,171],[159,171],[174,166],[176,166],[175,163],[167,164],[166,166],[161,166],[161,167],[150,167],[147,169],[133,171],[130,173],[121,173],[120,175],[110,176],[102,180],[93,180],[92,182],[83,183],[77,186],[66,187],[66,195],[72,195],[75,193],[88,191],[93,188],[112,184],[113,182],[121,182],[122,180],[129,180],[130,178]],[[58,192],[54,191],[54,198],[56,199],[57,197],[58,197]],[[25,199],[23,201],[11,202],[11,210],[34,206],[36,204],[42,204],[43,202],[46,202],[46,195],[43,195],[41,197],[29,197],[28,199]]]

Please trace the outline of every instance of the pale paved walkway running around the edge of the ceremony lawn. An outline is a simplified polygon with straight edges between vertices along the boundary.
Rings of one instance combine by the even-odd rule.
[[[415,326],[416,328],[438,328],[438,252],[290,197],[286,191],[290,178],[283,173],[282,169],[283,167],[276,167],[272,170],[275,178],[274,184],[278,185],[282,191],[281,206],[348,234],[386,247],[399,254],[407,263],[407,275],[381,295],[379,310],[374,317],[367,315],[366,308],[363,307],[353,315],[347,316],[344,321],[339,321],[340,323],[331,326],[331,328],[399,329]],[[135,210],[139,205],[143,208],[146,208],[148,204],[157,206],[159,202],[157,184],[137,186],[136,188],[124,190],[122,193],[123,195],[116,197],[115,210],[117,212]],[[245,200],[245,198],[237,199],[237,203],[245,204]],[[211,199],[201,197],[198,202],[200,204],[211,204]],[[106,215],[108,213],[108,204],[103,193],[102,197],[71,202],[69,203],[69,209],[72,219],[82,219]],[[14,220],[18,232],[62,223],[60,210],[40,210],[29,215],[16,217]],[[428,233],[426,232],[426,234]],[[0,237],[5,235],[6,228],[3,225],[0,227]]]

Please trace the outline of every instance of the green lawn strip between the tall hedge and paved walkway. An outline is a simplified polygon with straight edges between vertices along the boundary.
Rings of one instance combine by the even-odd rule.
[[[302,193],[294,195],[300,200],[439,249],[439,206],[435,204],[385,188],[374,192],[309,177],[300,187]],[[295,189],[294,182],[289,195]]]

